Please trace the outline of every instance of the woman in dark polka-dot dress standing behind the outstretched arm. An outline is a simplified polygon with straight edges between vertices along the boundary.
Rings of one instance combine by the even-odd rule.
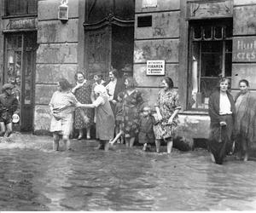
[[[72,89],[73,94],[77,100],[82,104],[91,103],[91,83],[84,78],[83,72],[77,72],[75,74],[77,81],[76,86]],[[93,124],[93,110],[90,108],[77,108],[75,110],[74,129],[79,129],[79,137],[81,140],[83,137],[84,128],[86,129],[86,138],[90,139],[90,126]]]

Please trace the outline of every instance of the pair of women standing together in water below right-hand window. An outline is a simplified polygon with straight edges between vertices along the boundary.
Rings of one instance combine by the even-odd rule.
[[[223,164],[224,157],[232,153],[247,161],[256,143],[256,97],[250,92],[246,79],[240,80],[239,88],[234,99],[229,91],[229,78],[221,78],[218,89],[209,98],[208,147],[216,164]]]

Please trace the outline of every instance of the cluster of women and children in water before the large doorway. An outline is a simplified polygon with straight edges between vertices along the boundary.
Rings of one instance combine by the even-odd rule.
[[[58,82],[58,89],[49,102],[52,114],[50,131],[53,133],[53,149],[59,150],[62,137],[65,149],[70,149],[73,128],[79,131],[78,140],[90,139],[92,124],[96,124],[96,139],[99,149],[108,150],[115,141],[133,147],[136,138],[146,151],[155,143],[160,152],[160,142],[167,144],[167,153],[172,152],[174,129],[177,127],[177,112],[181,109],[177,91],[171,78],[163,78],[157,103],[153,108],[143,100],[136,89],[137,83],[131,76],[118,78],[118,72],[109,72],[109,82],[102,80],[99,73],[93,80],[84,78],[83,72],[75,74],[74,87],[65,78]],[[74,112],[74,113],[73,113]],[[86,135],[84,135],[86,129]]]

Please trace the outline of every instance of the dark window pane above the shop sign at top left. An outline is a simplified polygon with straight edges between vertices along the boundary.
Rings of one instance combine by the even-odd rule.
[[[38,0],[5,0],[5,15],[37,14]]]

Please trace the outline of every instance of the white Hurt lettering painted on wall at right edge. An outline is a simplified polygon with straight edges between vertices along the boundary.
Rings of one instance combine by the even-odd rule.
[[[233,61],[256,61],[256,38],[243,37],[233,40]]]

